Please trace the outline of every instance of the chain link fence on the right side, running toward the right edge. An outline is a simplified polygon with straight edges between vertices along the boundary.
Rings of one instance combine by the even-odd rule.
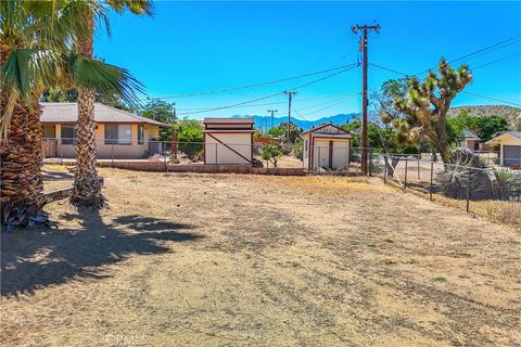
[[[385,183],[420,193],[468,213],[521,224],[521,171],[444,164],[421,155],[373,158]]]

